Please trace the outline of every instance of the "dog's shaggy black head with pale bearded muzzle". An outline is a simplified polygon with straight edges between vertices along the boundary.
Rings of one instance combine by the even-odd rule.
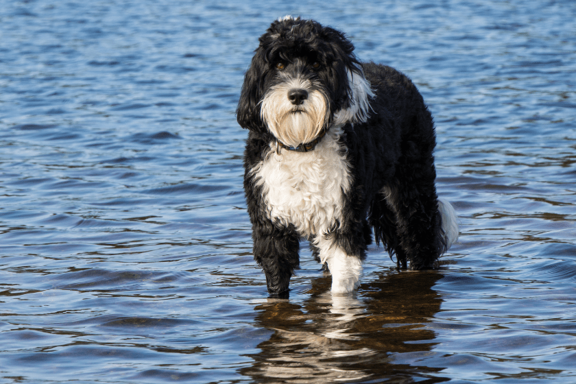
[[[365,121],[372,91],[353,50],[344,34],[316,21],[275,21],[246,72],[238,123],[296,147],[331,124]]]

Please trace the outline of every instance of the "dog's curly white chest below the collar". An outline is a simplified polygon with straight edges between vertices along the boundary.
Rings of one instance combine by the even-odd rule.
[[[350,166],[335,134],[326,135],[312,152],[271,154],[254,168],[263,187],[269,218],[310,237],[341,221]]]

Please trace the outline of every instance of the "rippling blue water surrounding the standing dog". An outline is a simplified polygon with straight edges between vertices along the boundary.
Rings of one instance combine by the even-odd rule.
[[[305,5],[304,5],[305,3]],[[576,3],[0,0],[2,383],[574,383]],[[435,272],[252,261],[235,121],[285,14],[407,73],[461,221]]]

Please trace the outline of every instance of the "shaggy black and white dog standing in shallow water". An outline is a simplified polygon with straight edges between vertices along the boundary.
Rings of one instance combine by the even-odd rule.
[[[435,189],[432,116],[402,73],[361,63],[341,32],[287,16],[260,38],[237,109],[248,128],[244,189],[254,259],[283,296],[300,239],[332,292],[357,289],[367,245],[398,267],[437,267],[458,237]]]

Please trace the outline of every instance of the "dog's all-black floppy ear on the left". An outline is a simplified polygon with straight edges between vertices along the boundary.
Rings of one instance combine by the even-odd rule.
[[[265,75],[268,71],[262,51],[263,49],[256,49],[250,68],[246,71],[236,110],[236,118],[242,128],[260,133],[266,132],[260,117],[260,101],[263,97]]]

